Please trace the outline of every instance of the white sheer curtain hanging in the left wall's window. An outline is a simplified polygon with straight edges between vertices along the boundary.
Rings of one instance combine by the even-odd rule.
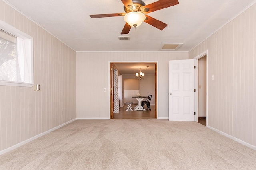
[[[20,67],[20,78],[22,82],[31,82],[28,71],[28,60],[26,59],[26,49],[24,39],[17,37],[17,55]]]

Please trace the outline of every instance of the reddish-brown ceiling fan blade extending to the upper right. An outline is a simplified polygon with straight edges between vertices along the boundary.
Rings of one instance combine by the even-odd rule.
[[[179,4],[178,0],[159,0],[156,2],[153,2],[152,4],[148,4],[145,6],[142,6],[141,10],[143,11],[145,8],[148,8],[149,11],[145,10],[143,13],[147,14],[153,11],[161,10],[170,6],[174,6]]]

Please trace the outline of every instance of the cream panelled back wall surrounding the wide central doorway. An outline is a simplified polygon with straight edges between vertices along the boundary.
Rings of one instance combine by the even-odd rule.
[[[188,59],[188,52],[77,52],[78,118],[108,118],[108,61],[158,61],[158,116],[168,118],[168,61]]]

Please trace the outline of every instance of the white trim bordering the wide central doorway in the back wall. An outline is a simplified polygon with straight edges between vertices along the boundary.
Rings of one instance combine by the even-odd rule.
[[[110,63],[156,63],[156,68],[157,68],[157,72],[156,72],[156,105],[159,106],[158,104],[158,74],[159,74],[159,69],[158,69],[158,61],[108,61],[108,115],[109,115],[109,119],[110,119]],[[156,108],[156,119],[158,119],[158,107]]]

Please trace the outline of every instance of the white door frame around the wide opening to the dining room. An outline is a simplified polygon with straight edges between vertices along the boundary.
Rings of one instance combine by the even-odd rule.
[[[111,119],[111,104],[110,104],[110,92],[111,92],[111,87],[110,87],[110,64],[111,63],[156,63],[156,102],[155,102],[155,107],[156,107],[156,119],[158,119],[158,61],[108,61],[108,118]]]

